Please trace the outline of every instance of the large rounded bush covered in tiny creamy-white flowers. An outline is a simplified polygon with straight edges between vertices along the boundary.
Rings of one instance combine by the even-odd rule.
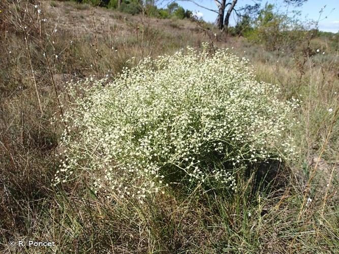
[[[81,86],[90,88],[67,114],[56,183],[85,170],[96,189],[142,202],[174,182],[235,189],[235,170],[293,153],[296,100],[279,101],[227,50],[145,58],[112,82]]]

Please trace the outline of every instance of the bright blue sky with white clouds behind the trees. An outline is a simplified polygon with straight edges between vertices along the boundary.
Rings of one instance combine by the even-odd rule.
[[[228,2],[231,0],[228,0]],[[214,0],[195,0],[195,2],[201,6],[204,6],[208,9],[217,10],[217,6],[215,5]],[[262,0],[262,6],[268,2],[270,4],[275,4],[279,7],[280,10],[286,12],[286,5],[283,4],[283,0]],[[181,5],[184,9],[188,9],[196,12],[199,16],[201,16],[205,21],[214,22],[217,18],[217,13],[208,11],[201,7],[196,6],[192,2],[187,1],[178,1],[179,5]],[[241,7],[246,4],[253,4],[254,0],[238,0],[237,6]],[[299,10],[301,11],[300,20],[306,22],[306,20],[318,20],[319,19],[319,11],[326,5],[324,11],[320,17],[319,21],[319,30],[322,31],[330,31],[332,33],[337,33],[339,31],[339,0],[308,0],[305,4],[303,4],[299,8],[291,8],[289,10]],[[230,18],[230,25],[235,24],[234,15]]]

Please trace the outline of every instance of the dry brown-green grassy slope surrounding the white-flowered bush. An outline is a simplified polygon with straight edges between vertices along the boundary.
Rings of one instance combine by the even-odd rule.
[[[308,60],[300,79],[293,55],[267,52],[242,38],[214,37],[214,31],[191,21],[148,19],[69,2],[41,5],[46,26],[40,36],[39,29],[29,25],[34,37],[28,37],[27,45],[22,27],[11,25],[18,24],[11,21],[13,16],[2,16],[5,22],[0,23],[1,248],[19,251],[7,242],[35,239],[54,240],[54,250],[60,252],[326,253],[337,249],[339,126],[334,113],[339,81],[337,52],[327,41],[312,42],[326,54]],[[13,15],[20,14],[9,8]],[[22,20],[29,24],[27,16]],[[284,98],[302,99],[296,116],[300,125],[293,130],[300,155],[290,168],[279,168],[278,176],[270,176],[275,181],[264,187],[258,186],[259,174],[242,178],[233,197],[227,193],[187,197],[180,190],[170,190],[143,205],[95,197],[87,182],[51,187],[58,163],[53,154],[63,131],[61,123],[50,124],[54,113],[59,114],[55,90],[65,109],[66,80],[114,77],[124,66],[134,65],[127,61],[131,57],[138,60],[188,45],[200,47],[210,40],[216,47],[250,58],[258,80],[278,83]],[[312,202],[304,204],[300,213],[308,198]],[[45,251],[20,249],[24,250]]]

